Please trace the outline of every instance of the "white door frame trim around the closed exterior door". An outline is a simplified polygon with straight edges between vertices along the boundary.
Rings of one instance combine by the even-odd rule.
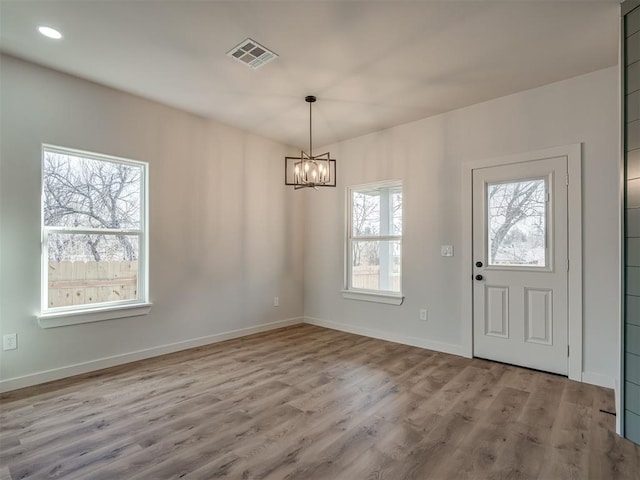
[[[582,145],[564,145],[532,152],[491,158],[462,165],[462,269],[465,285],[462,298],[462,343],[468,357],[473,356],[473,170],[528,162],[543,158],[567,157],[569,188],[569,275],[568,275],[568,373],[582,381]]]

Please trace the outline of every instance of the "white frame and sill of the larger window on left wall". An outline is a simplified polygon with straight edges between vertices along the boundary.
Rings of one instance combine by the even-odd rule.
[[[140,228],[104,229],[104,228],[74,228],[46,226],[45,210],[45,155],[57,153],[99,162],[130,165],[140,168]],[[132,235],[138,237],[138,298],[131,300],[109,301],[101,303],[85,303],[63,307],[49,307],[49,251],[48,237],[50,234],[100,234],[100,235]],[[40,241],[41,241],[41,294],[40,313],[38,323],[42,328],[75,325],[79,323],[96,322],[115,318],[125,318],[146,315],[151,308],[149,301],[149,164],[139,160],[106,155],[57,145],[42,144],[41,148],[41,184],[40,184]]]

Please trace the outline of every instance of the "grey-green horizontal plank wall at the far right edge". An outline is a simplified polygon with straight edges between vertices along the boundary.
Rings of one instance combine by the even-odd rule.
[[[624,431],[640,443],[640,8],[625,16]]]

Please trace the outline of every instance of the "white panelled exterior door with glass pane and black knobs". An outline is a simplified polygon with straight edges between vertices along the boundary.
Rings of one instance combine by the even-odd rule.
[[[473,170],[474,356],[568,371],[567,157]]]

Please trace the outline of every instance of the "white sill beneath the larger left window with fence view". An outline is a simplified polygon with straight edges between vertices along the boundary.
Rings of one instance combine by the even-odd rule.
[[[85,310],[66,310],[38,315],[41,328],[64,327],[80,323],[101,322],[115,318],[146,315],[151,310],[150,303],[135,303],[109,307],[89,308]]]

